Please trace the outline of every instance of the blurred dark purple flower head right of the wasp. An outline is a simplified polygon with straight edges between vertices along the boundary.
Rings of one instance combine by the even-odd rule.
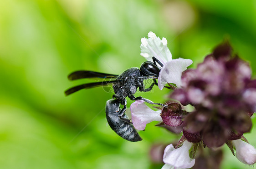
[[[251,80],[249,64],[231,53],[228,42],[217,46],[195,70],[183,72],[182,87],[171,94],[181,104],[195,106],[184,119],[189,142],[202,139],[208,147],[220,147],[251,130],[256,80]]]

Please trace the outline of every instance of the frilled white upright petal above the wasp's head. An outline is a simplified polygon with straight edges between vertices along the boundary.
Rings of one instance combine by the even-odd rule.
[[[142,54],[148,54],[148,57],[146,57],[148,61],[153,61],[153,56],[162,64],[172,60],[172,54],[167,47],[167,40],[165,38],[160,40],[153,32],[148,33],[148,39],[141,39],[140,49]]]

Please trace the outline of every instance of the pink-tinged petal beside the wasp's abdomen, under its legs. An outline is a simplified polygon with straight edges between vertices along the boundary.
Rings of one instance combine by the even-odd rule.
[[[144,130],[146,124],[152,121],[162,121],[161,110],[150,109],[143,100],[136,100],[131,104],[132,122],[135,129]]]

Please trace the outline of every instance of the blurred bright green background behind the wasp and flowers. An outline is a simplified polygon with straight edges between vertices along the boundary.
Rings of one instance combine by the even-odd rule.
[[[110,129],[102,88],[68,97],[75,70],[120,74],[145,61],[153,31],[191,68],[229,38],[256,75],[255,0],[2,0],[0,2],[0,169],[160,169],[153,144],[179,135],[148,124],[131,143]],[[164,102],[168,90],[137,93]],[[128,101],[128,105],[131,104]],[[255,119],[253,119],[255,122]],[[245,134],[256,145],[256,129]],[[227,146],[222,169],[243,169]]]

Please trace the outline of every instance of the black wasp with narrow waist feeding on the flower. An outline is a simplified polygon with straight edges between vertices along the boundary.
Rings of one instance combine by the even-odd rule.
[[[153,63],[154,62],[154,63]],[[141,137],[138,132],[133,127],[130,119],[128,119],[125,114],[127,100],[126,97],[131,100],[144,100],[149,104],[158,104],[166,106],[165,104],[154,103],[149,99],[143,97],[135,97],[133,94],[136,93],[137,89],[139,91],[150,91],[154,84],[157,85],[156,79],[159,76],[160,68],[156,65],[156,62],[162,67],[163,64],[153,57],[153,62],[146,61],[140,66],[140,68],[130,68],[125,70],[121,75],[105,74],[87,70],[79,70],[68,75],[69,80],[77,80],[83,78],[104,78],[105,81],[81,84],[65,91],[66,95],[72,94],[80,89],[90,89],[93,87],[105,86],[108,84],[113,84],[113,89],[115,94],[113,99],[110,99],[106,103],[106,117],[109,126],[113,129],[119,136],[128,141],[140,141]],[[115,80],[108,80],[110,78]],[[149,88],[145,89],[143,80],[154,79],[154,82]],[[123,109],[120,109],[120,104],[123,105]]]

